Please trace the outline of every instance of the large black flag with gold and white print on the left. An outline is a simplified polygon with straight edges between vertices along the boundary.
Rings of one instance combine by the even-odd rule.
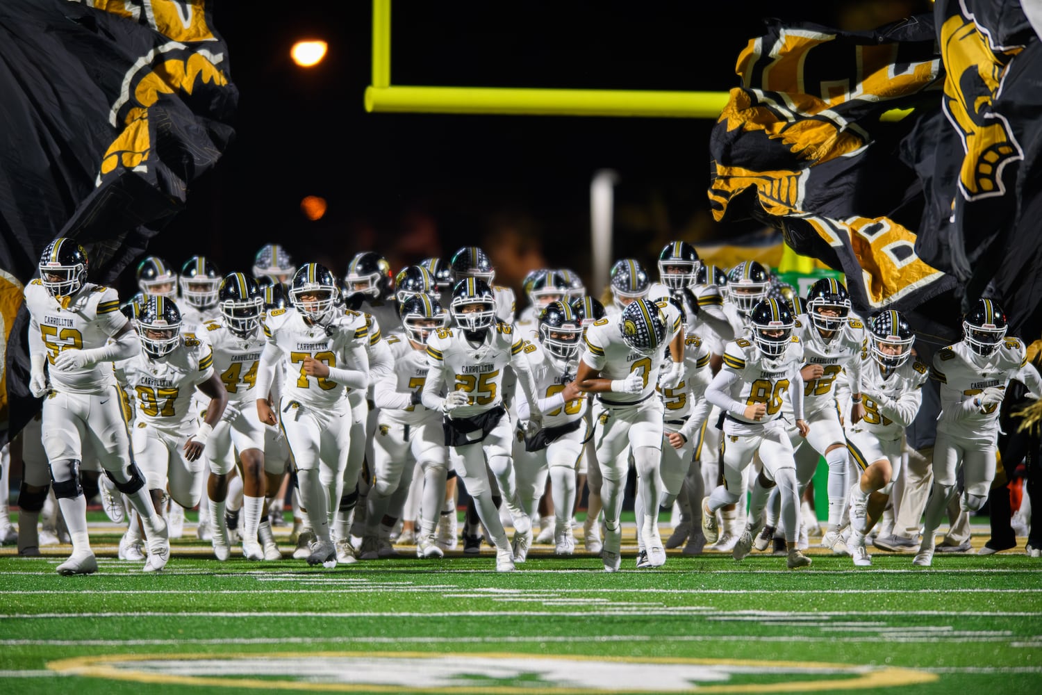
[[[0,2],[0,443],[38,409],[16,309],[44,247],[74,237],[90,279],[115,280],[233,135],[212,4]]]

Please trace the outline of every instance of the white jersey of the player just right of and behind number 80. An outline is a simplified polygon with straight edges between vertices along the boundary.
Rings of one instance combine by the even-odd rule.
[[[803,344],[805,365],[821,365],[824,374],[803,382],[803,412],[817,413],[826,407],[836,407],[836,377],[847,371],[850,389],[860,393],[862,353],[868,343],[865,339],[865,324],[850,319],[843,330],[827,345],[818,338],[818,329],[807,314],[796,317],[793,334]],[[845,404],[844,404],[845,405]]]

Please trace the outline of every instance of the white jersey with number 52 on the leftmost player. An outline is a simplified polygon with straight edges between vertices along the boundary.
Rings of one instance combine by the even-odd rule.
[[[93,365],[85,369],[54,368],[54,358],[67,348],[88,350],[104,346],[123,329],[127,318],[120,313],[116,290],[84,282],[73,297],[51,296],[39,279],[25,288],[29,309],[29,351],[47,354],[51,386],[64,393],[99,393],[116,384],[111,366]]]

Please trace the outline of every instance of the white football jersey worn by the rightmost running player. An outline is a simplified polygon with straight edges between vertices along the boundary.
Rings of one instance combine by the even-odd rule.
[[[1010,379],[1017,376],[1026,364],[1024,344],[1017,338],[1007,338],[988,357],[977,355],[965,342],[935,352],[931,376],[941,384],[941,414],[937,419],[937,430],[962,438],[997,435],[997,404],[983,405],[966,417],[957,417],[957,414],[965,401],[972,400],[985,389],[1006,389]],[[1034,388],[1037,384],[1025,386],[1039,393]]]

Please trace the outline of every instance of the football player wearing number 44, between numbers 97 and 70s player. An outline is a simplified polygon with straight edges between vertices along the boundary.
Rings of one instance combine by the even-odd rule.
[[[281,482],[282,462],[273,457],[275,464],[270,469],[267,467],[265,427],[253,407],[256,401],[253,387],[260,353],[267,343],[260,327],[264,297],[252,277],[231,273],[221,281],[218,298],[221,320],[203,324],[201,331],[214,348],[214,369],[228,394],[225,416],[214,427],[206,447],[209,467],[206,490],[214,553],[223,561],[230,551],[224,513],[228,476],[235,467],[238,452],[245,517],[240,532],[243,555],[247,560],[279,560],[282,555],[275,544],[271,524],[264,517],[264,507],[265,498],[273,495]],[[267,494],[268,490],[271,495]]]

